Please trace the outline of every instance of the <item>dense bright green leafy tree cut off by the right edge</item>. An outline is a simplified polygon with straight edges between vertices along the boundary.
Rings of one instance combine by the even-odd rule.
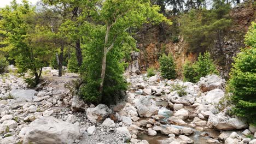
[[[248,48],[242,49],[234,58],[233,68],[228,82],[231,100],[235,104],[232,112],[240,117],[245,117],[248,122],[256,124],[256,24],[252,22],[245,36]]]

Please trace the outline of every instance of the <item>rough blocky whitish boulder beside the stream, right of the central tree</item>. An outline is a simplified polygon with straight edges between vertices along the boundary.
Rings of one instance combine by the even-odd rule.
[[[157,113],[156,104],[149,96],[141,97],[136,103],[140,117],[151,117]]]

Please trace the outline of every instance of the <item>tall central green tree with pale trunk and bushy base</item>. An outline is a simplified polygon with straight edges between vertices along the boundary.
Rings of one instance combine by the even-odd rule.
[[[92,17],[96,25],[95,22],[83,25],[85,68],[81,94],[94,103],[106,103],[105,100],[114,101],[114,95],[126,89],[122,59],[126,49],[135,48],[129,29],[146,22],[171,22],[158,13],[158,6],[150,7],[149,1],[107,0],[99,7],[97,15]]]

